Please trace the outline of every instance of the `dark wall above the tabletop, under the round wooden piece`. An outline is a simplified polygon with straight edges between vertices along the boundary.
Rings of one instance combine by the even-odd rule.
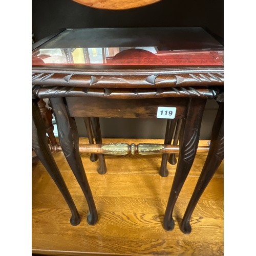
[[[122,11],[100,10],[71,0],[32,0],[37,40],[61,28],[203,27],[223,37],[223,0],[162,0]]]

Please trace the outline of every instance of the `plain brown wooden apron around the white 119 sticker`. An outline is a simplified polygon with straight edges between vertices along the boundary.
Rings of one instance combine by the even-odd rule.
[[[183,118],[188,98],[161,99],[106,99],[67,97],[71,116],[75,117],[123,117],[156,118],[158,106],[176,107],[176,118]]]

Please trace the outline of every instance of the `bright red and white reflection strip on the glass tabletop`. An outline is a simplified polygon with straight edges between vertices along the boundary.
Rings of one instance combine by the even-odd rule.
[[[168,50],[158,47],[36,49],[32,65],[223,66],[223,50]]]

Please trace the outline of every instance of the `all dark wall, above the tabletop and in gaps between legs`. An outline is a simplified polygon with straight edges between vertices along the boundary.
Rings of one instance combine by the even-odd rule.
[[[136,9],[110,11],[82,6],[71,0],[32,0],[32,30],[36,40],[61,28],[111,27],[203,27],[223,37],[223,0],[162,0]],[[201,139],[209,139],[218,104],[208,101]],[[86,136],[83,120],[77,118],[80,136]],[[166,120],[100,120],[103,137],[164,138]]]

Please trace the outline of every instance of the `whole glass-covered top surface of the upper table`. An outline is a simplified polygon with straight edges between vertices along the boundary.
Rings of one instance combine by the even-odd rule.
[[[204,29],[65,29],[36,44],[33,67],[223,66],[223,46]]]

